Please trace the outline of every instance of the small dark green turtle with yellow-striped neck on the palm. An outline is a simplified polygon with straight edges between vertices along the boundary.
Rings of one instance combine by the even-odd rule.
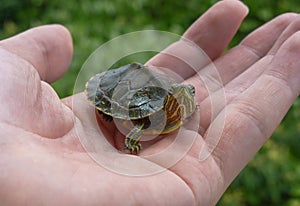
[[[194,86],[178,84],[139,63],[96,74],[85,93],[105,119],[134,125],[125,138],[131,153],[142,149],[139,140],[147,128],[152,134],[170,133],[196,109]]]

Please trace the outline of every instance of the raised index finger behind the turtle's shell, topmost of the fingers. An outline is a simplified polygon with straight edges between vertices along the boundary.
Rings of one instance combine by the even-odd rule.
[[[147,64],[170,68],[186,79],[226,49],[247,13],[240,1],[218,2],[184,33],[182,40]]]

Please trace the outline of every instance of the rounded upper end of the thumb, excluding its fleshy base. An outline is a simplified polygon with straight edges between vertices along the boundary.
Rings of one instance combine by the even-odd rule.
[[[67,71],[73,54],[70,33],[60,25],[30,29],[0,41],[0,46],[30,62],[47,82],[54,82]]]

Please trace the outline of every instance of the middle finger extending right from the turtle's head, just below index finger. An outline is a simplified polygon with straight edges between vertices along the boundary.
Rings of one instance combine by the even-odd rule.
[[[193,83],[196,88],[204,89],[198,96],[198,102],[209,95],[209,93],[204,92],[205,90],[215,92],[217,89],[222,89],[225,84],[264,57],[297,16],[297,14],[292,13],[284,14],[268,22],[252,32],[240,45],[214,61],[213,65],[208,65],[202,69],[199,72],[201,78],[199,75],[195,75],[187,80]]]

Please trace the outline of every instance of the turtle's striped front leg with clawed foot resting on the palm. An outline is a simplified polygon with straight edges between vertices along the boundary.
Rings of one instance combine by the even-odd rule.
[[[125,148],[129,149],[131,153],[134,151],[138,152],[142,149],[142,144],[139,140],[142,137],[144,123],[137,124],[135,127],[126,135]]]

